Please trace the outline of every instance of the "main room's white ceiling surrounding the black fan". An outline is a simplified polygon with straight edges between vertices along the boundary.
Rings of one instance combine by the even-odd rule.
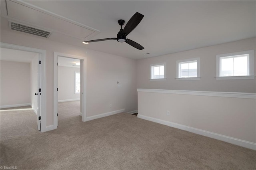
[[[138,50],[116,40],[88,45],[72,37],[54,37],[54,41],[102,51],[113,55],[142,59],[186,51],[256,36],[256,1],[25,1],[86,25],[99,34],[85,40],[114,38],[120,30],[118,20],[128,20],[139,12],[140,24],[127,38],[140,43]],[[2,1],[1,1],[2,3]],[[39,7],[39,8],[38,8]],[[25,19],[26,16],[23,16]],[[8,29],[1,17],[1,29]],[[50,26],[49,26],[50,27]],[[51,35],[52,36],[52,35]],[[150,53],[144,55],[145,53]]]

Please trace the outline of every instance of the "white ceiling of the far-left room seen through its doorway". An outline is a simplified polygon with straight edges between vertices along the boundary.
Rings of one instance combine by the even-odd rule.
[[[0,60],[30,63],[38,53],[0,48]]]

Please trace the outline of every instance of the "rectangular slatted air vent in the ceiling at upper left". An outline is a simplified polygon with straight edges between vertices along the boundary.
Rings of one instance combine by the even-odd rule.
[[[41,30],[38,28],[33,28],[30,26],[26,26],[24,24],[19,24],[16,22],[12,22],[9,21],[9,26],[11,30],[15,30],[15,31],[19,31],[19,32],[25,32],[28,34],[32,34],[32,35],[36,35],[36,36],[40,36],[40,37],[44,37],[44,38],[48,38],[51,34],[51,32],[45,31],[45,30]]]

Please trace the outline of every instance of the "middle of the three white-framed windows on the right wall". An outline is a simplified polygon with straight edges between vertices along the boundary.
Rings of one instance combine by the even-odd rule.
[[[199,80],[200,58],[176,61],[177,80]]]

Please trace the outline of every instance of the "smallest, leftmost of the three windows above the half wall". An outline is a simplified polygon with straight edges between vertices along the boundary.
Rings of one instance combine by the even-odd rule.
[[[150,65],[150,79],[165,80],[166,79],[166,63],[158,63],[158,64]]]

